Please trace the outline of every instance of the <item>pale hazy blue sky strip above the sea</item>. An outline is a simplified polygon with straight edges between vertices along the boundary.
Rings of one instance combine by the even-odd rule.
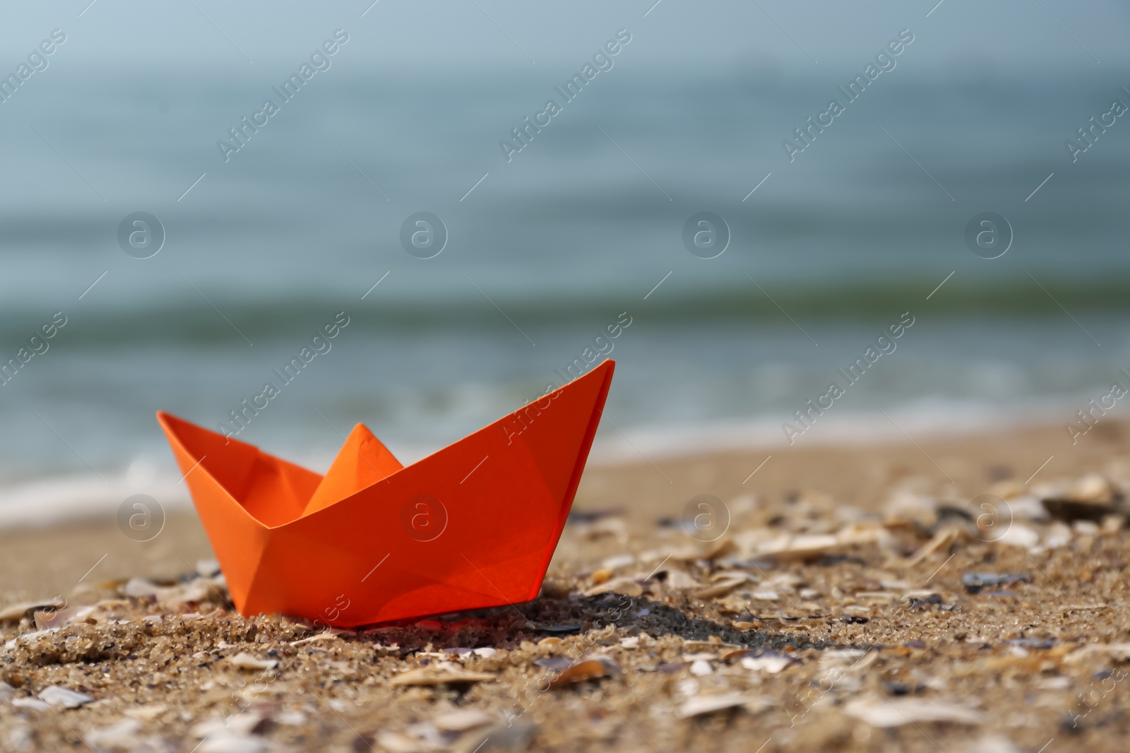
[[[351,0],[320,6],[293,0],[240,6],[215,0],[159,6],[142,0],[68,0],[12,7],[10,23],[0,29],[0,44],[31,49],[37,35],[54,27],[70,32],[69,24],[75,31],[88,29],[81,53],[90,60],[133,64],[139,58],[166,59],[194,70],[251,68],[296,64],[307,47],[313,50],[340,27],[367,37],[365,45],[350,49],[358,66],[410,62],[415,70],[434,67],[450,73],[467,63],[476,68],[580,63],[618,28],[633,34],[646,29],[641,40],[650,40],[642,53],[647,64],[676,60],[681,66],[698,62],[715,68],[720,61],[753,55],[806,67],[862,66],[873,54],[868,52],[871,47],[877,51],[898,29],[912,28],[915,34],[929,29],[945,40],[945,46],[918,51],[922,62],[935,68],[991,64],[1032,72],[1033,62],[1049,68],[1071,61],[1086,66],[1094,62],[1092,55],[1112,68],[1124,66],[1130,51],[1121,36],[1130,10],[1114,0],[1092,3],[1086,16],[1071,15],[1075,8],[1063,0],[1043,5],[1007,0],[976,6],[975,14],[959,0],[854,5],[583,0],[568,6],[519,0]]]

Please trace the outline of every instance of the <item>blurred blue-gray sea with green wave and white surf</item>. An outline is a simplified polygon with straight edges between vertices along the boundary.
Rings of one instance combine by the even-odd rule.
[[[555,71],[331,69],[226,161],[217,141],[287,71],[36,73],[55,78],[0,104],[0,361],[67,323],[0,386],[0,504],[49,477],[175,481],[154,412],[217,429],[339,312],[240,439],[323,469],[364,422],[414,459],[610,347],[602,447],[781,443],[905,312],[799,443],[863,439],[880,409],[915,432],[1066,423],[1125,379],[1130,124],[1064,147],[1130,102],[1115,71],[898,69],[790,162],[782,141],[845,83],[831,69],[620,66],[507,159],[499,141],[560,98]],[[165,235],[145,259],[119,243],[139,211]],[[729,228],[716,258],[685,246],[701,211]],[[1011,227],[996,259],[965,241],[984,211]],[[416,213],[442,220],[437,256],[403,248]]]

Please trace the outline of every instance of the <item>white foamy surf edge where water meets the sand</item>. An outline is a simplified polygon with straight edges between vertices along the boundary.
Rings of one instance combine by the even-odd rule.
[[[912,436],[920,444],[945,444],[947,441],[979,441],[977,438],[1032,432],[1064,436],[1068,432],[1054,422],[1068,414],[1074,403],[1049,405],[1040,403],[1028,409],[986,412],[984,406],[970,404],[945,406],[907,407],[881,415],[875,412],[833,413],[822,416],[818,423],[803,432],[793,443],[785,441],[782,422],[775,418],[741,421],[699,422],[689,425],[638,426],[626,434],[607,430],[598,436],[589,455],[586,475],[611,473],[617,475],[623,468],[640,465],[686,462],[728,462],[731,457],[756,457],[759,452],[782,456],[794,452],[817,455],[835,451],[837,448],[861,445],[869,448],[896,447]],[[1110,424],[1110,429],[1105,425]],[[1118,421],[1103,418],[1093,429],[1097,435],[1118,432]],[[1057,429],[1057,426],[1059,426]],[[1087,435],[1078,436],[1080,443]],[[1043,441],[1043,440],[1042,440]],[[1095,441],[1092,439],[1092,441]],[[1046,439],[1054,447],[1053,436]],[[254,442],[252,442],[254,444]],[[1070,444],[1063,443],[1067,449]],[[263,445],[267,448],[268,445]],[[397,456],[410,465],[436,447],[391,445]],[[156,451],[156,450],[155,450]],[[165,448],[159,448],[165,452]],[[277,451],[271,448],[270,451]],[[1054,451],[1054,450],[1052,450]],[[164,459],[164,456],[162,456]],[[1046,456],[1045,456],[1046,457]],[[287,459],[312,469],[324,469],[332,460],[325,457],[296,457]],[[112,519],[123,500],[133,494],[147,494],[159,501],[168,514],[192,513],[192,502],[188,490],[180,482],[180,474],[167,459],[167,468],[142,471],[148,483],[131,478],[132,470],[103,470],[98,478],[89,471],[61,473],[11,479],[0,485],[0,536],[14,530],[35,530],[54,526],[66,526],[80,521],[97,523]],[[151,465],[147,460],[147,465]],[[750,468],[751,470],[751,468]],[[104,481],[103,481],[104,479]],[[583,486],[583,483],[582,483]]]

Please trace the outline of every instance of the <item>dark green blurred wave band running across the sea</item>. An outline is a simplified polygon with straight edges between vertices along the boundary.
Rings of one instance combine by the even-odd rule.
[[[668,289],[663,291],[661,303],[640,302],[633,312],[640,311],[641,318],[652,324],[757,323],[779,320],[782,310],[798,320],[867,322],[883,320],[911,306],[932,319],[994,315],[1017,321],[1060,318],[1063,315],[1060,306],[1076,315],[1124,315],[1130,312],[1130,296],[1116,275],[1109,275],[1103,280],[1049,277],[1044,283],[1046,289],[1027,276],[1020,279],[980,278],[976,282],[953,279],[946,284],[945,295],[935,295],[923,304],[923,298],[939,282],[940,278],[924,276],[825,285],[805,280],[775,282],[770,286],[770,298],[751,285],[680,287],[678,282],[671,280],[666,285]],[[366,301],[349,308],[350,315],[356,311],[353,332],[411,336],[436,330],[458,332],[511,328],[512,324],[499,315],[495,304],[505,310],[506,317],[521,324],[590,326],[599,324],[621,311],[625,301],[642,297],[635,289],[586,295],[565,291],[557,295],[539,294],[536,298],[525,294],[498,294],[492,296],[492,303],[473,288],[471,294],[445,295],[438,301],[420,301],[415,296]],[[338,295],[280,295],[252,301],[216,296],[211,300],[227,319],[236,323],[238,330],[211,308],[188,300],[138,308],[89,308],[81,315],[73,315],[59,341],[66,343],[69,349],[90,349],[105,345],[140,347],[154,343],[211,347],[242,343],[243,336],[252,341],[293,339],[294,332],[305,331],[312,322],[321,322],[327,311],[340,310],[342,305],[342,296]],[[0,306],[0,339],[23,339],[26,331],[38,323],[36,315],[37,312],[28,311],[26,306]],[[146,326],[139,327],[142,318]]]

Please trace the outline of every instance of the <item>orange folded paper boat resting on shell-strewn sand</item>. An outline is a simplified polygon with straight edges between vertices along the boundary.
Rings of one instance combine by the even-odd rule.
[[[612,361],[410,466],[360,424],[325,476],[165,413],[243,615],[348,628],[538,595]]]

